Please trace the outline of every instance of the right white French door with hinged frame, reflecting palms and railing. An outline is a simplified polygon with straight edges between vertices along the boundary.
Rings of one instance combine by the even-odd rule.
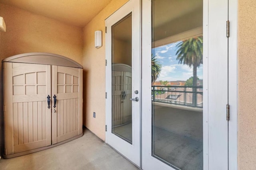
[[[237,90],[236,28],[226,37],[226,21],[236,26],[232,2],[142,0],[142,169],[236,169],[237,96],[229,91]]]

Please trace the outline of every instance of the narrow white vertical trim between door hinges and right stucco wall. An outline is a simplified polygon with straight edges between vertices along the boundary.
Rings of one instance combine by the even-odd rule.
[[[230,37],[228,42],[228,102],[230,105],[230,121],[228,123],[228,165],[230,170],[237,170],[237,107],[238,107],[238,59],[237,59],[237,21],[238,1],[229,0],[228,20],[230,21]]]

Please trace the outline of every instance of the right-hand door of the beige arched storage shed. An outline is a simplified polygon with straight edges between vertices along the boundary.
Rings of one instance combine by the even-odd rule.
[[[52,96],[54,144],[82,133],[82,69],[52,66]]]

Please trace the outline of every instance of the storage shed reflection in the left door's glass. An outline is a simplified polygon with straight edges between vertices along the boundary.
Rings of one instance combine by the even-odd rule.
[[[132,68],[112,65],[112,121],[121,125],[132,121]]]

